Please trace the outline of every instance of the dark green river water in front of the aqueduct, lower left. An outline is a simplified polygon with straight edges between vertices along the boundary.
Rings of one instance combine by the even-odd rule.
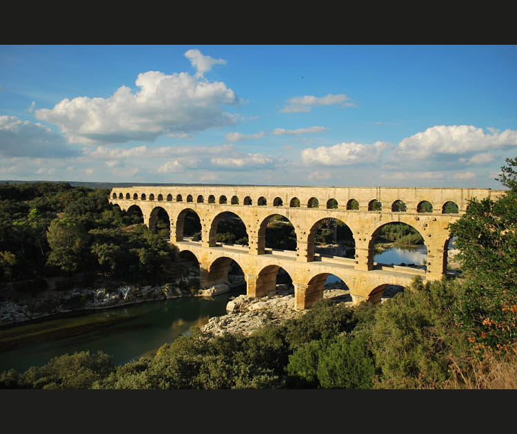
[[[244,291],[142,302],[0,330],[0,372],[25,371],[75,351],[101,350],[117,365],[152,356],[163,344],[188,333],[190,327],[202,327],[209,318],[225,315],[228,298]],[[6,348],[9,346],[14,347]]]

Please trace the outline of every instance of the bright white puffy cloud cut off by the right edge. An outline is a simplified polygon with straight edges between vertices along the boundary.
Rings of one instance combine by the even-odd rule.
[[[517,131],[488,131],[472,125],[436,125],[404,138],[397,145],[396,155],[427,158],[436,154],[460,155],[517,145]],[[480,158],[486,160],[487,155]]]

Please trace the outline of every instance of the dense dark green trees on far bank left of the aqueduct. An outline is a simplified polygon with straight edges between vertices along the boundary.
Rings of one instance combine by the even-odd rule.
[[[163,278],[174,249],[108,195],[68,183],[1,184],[0,284],[23,287],[84,271],[134,282]]]

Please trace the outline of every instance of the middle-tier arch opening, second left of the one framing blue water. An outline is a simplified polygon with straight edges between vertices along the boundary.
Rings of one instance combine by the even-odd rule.
[[[296,229],[289,218],[282,214],[270,214],[264,218],[257,232],[259,252],[263,252],[266,247],[291,251],[298,247]]]

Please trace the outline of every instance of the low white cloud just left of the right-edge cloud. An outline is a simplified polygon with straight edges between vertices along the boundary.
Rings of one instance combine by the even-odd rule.
[[[388,143],[376,142],[372,145],[361,143],[338,143],[334,146],[308,147],[302,151],[305,164],[321,164],[327,166],[352,165],[359,163],[375,163]]]

